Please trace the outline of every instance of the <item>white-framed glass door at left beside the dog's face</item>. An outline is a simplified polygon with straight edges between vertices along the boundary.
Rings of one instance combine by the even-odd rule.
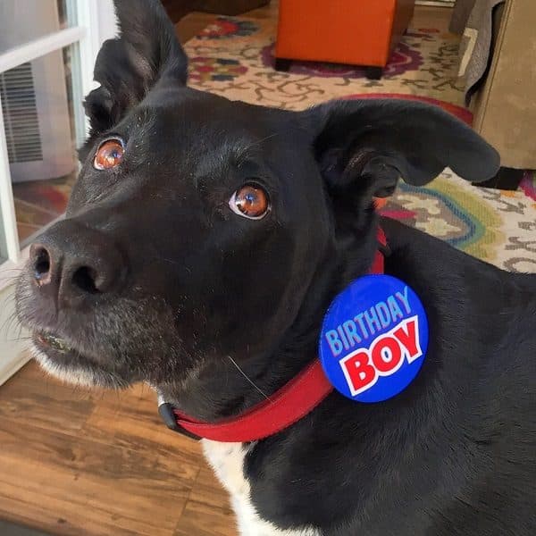
[[[63,214],[86,133],[83,96],[113,37],[112,0],[0,2],[0,289]]]

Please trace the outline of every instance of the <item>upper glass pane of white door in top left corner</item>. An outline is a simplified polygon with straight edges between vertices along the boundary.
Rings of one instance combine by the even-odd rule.
[[[72,0],[0,0],[0,54],[75,25]]]

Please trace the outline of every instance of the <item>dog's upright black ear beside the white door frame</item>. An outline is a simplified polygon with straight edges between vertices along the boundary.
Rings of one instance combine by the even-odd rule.
[[[158,80],[186,84],[188,58],[160,0],[114,0],[118,38],[105,41],[96,57],[100,84],[84,103],[90,135],[111,129]]]

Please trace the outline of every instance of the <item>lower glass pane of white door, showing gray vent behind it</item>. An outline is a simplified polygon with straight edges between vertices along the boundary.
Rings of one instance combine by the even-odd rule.
[[[21,247],[63,214],[78,172],[75,122],[82,117],[81,99],[72,96],[77,51],[69,46],[0,74]]]

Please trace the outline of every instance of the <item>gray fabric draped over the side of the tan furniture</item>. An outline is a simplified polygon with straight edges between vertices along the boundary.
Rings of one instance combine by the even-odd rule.
[[[465,78],[465,103],[488,69],[493,37],[493,12],[505,0],[475,0],[460,45],[460,72]]]

